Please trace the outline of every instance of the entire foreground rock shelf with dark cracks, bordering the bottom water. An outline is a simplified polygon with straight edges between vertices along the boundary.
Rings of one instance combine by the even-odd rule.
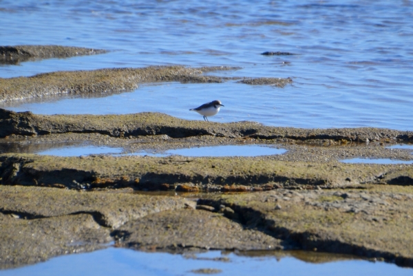
[[[304,249],[413,266],[412,187],[276,189],[203,195],[198,202],[123,189],[0,186],[0,196],[0,268],[107,242],[178,253]]]

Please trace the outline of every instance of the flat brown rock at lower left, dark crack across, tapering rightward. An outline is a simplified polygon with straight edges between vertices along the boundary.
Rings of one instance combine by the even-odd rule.
[[[187,206],[178,197],[19,186],[0,186],[0,198],[0,268],[103,248],[129,220]]]

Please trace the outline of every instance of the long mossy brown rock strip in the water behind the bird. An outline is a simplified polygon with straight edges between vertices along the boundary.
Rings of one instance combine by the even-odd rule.
[[[204,72],[237,70],[240,67],[153,66],[91,71],[52,72],[30,77],[0,78],[0,102],[55,96],[59,94],[102,94],[131,91],[142,83],[223,83],[240,77],[205,76]],[[284,87],[291,78],[248,78],[247,84]]]

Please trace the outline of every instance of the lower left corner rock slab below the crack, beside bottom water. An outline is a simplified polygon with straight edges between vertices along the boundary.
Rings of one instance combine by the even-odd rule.
[[[22,220],[14,213],[0,213],[0,224],[0,269],[94,251],[112,241],[109,229],[85,213],[33,220]]]

